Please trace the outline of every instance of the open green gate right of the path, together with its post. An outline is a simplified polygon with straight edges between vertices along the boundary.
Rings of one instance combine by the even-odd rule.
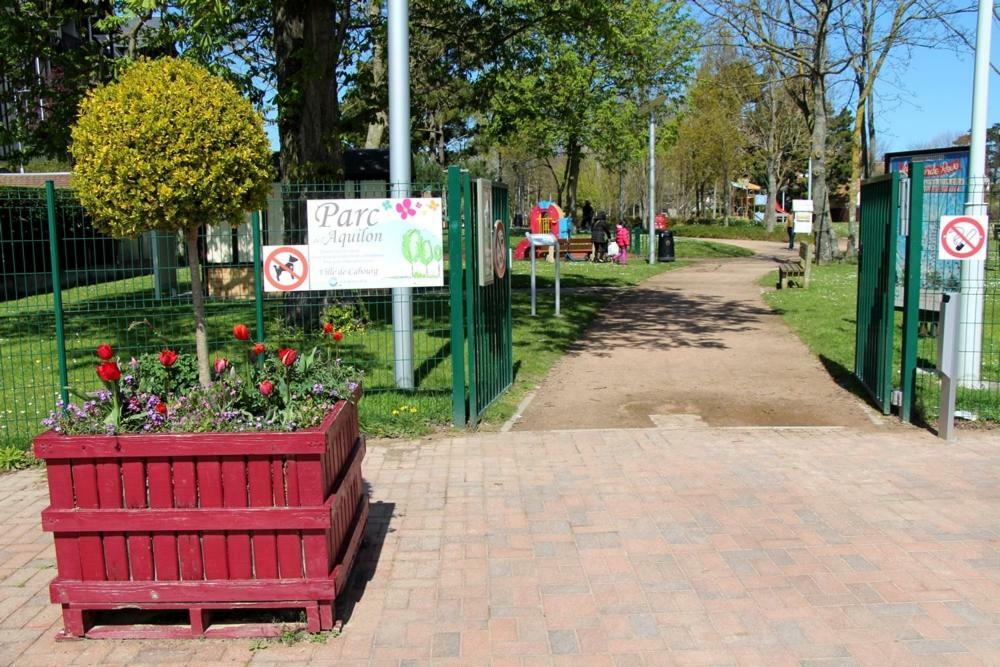
[[[916,400],[924,167],[861,185],[861,257],[858,266],[854,374],[883,414],[899,406],[910,421]],[[902,241],[903,245],[900,246]],[[900,282],[899,279],[902,278]],[[893,400],[896,310],[902,310],[899,394]]]

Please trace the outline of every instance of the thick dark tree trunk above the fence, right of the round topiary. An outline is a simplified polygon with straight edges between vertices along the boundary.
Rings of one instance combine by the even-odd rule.
[[[331,0],[274,3],[276,104],[285,181],[340,174],[337,61],[349,7]]]

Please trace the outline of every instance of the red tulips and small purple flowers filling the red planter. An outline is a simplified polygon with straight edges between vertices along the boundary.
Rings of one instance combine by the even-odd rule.
[[[318,425],[361,382],[362,371],[337,357],[343,333],[329,323],[308,351],[253,342],[245,324],[233,336],[245,358],[216,357],[208,386],[193,355],[164,348],[124,361],[101,344],[95,371],[104,387],[57,405],[43,425],[66,435],[294,431]]]

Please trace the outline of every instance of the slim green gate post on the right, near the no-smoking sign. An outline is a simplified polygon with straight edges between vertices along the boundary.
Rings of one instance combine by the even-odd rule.
[[[900,354],[900,385],[903,401],[899,417],[913,418],[916,405],[917,339],[920,321],[920,260],[924,243],[924,164],[910,165],[909,219],[906,225],[906,265],[903,272],[903,346]]]

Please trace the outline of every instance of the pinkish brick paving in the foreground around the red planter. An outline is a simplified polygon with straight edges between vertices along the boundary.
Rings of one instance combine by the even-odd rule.
[[[0,664],[1000,664],[998,440],[702,428],[375,445],[343,634],[256,651],[54,642],[42,477],[6,475]]]

